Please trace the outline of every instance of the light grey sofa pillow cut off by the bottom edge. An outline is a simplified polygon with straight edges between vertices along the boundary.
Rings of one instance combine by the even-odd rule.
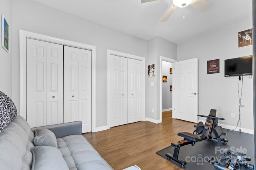
[[[69,170],[60,150],[55,147],[37,146],[32,149],[31,170]]]

